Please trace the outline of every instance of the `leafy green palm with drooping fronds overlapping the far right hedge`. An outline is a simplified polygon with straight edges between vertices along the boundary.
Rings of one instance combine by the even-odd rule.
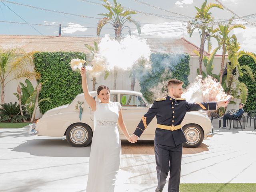
[[[240,44],[237,42],[236,36],[232,35],[231,40],[227,45],[228,60],[230,60],[230,64],[227,65],[227,75],[223,78],[225,82],[222,83],[222,86],[227,94],[232,94],[235,98],[239,98],[242,103],[246,103],[248,88],[243,82],[238,80],[238,77],[242,77],[244,74],[247,74],[251,79],[253,79],[254,75],[249,66],[240,66],[238,59],[244,55],[248,55],[252,57],[256,63],[256,57],[252,52],[238,52],[239,49]],[[236,69],[236,73],[234,73],[234,69]],[[238,90],[240,94],[238,94]]]

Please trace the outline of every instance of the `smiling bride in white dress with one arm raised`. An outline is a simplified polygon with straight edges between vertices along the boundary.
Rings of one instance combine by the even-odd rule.
[[[121,141],[117,125],[127,140],[131,140],[122,118],[121,105],[111,102],[110,90],[107,86],[99,86],[98,98],[94,100],[88,91],[86,70],[80,70],[84,98],[94,111],[96,123],[89,160],[87,192],[114,192],[116,176],[121,161]]]

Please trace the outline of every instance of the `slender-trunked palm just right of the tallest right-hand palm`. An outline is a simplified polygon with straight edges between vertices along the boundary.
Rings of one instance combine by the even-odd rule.
[[[219,25],[218,28],[214,29],[212,31],[213,34],[217,33],[218,35],[221,36],[221,46],[222,46],[222,59],[221,59],[221,67],[220,67],[220,84],[222,83],[222,76],[223,76],[223,70],[224,70],[224,62],[225,62],[225,55],[227,53],[227,46],[230,43],[230,40],[232,40],[232,36],[228,36],[230,31],[234,28],[243,28],[245,29],[245,26],[242,24],[237,24],[237,25],[231,25],[232,21],[234,20],[234,17],[232,17],[228,25]],[[234,37],[234,36],[233,36]]]

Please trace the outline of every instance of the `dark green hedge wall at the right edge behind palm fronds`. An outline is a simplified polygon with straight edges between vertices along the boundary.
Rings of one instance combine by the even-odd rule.
[[[256,109],[256,64],[250,56],[242,56],[238,60],[240,66],[248,65],[254,72],[254,80],[251,80],[248,75],[239,77],[240,82],[244,82],[248,87],[248,97],[246,104],[244,106],[244,111],[248,112],[250,110]]]

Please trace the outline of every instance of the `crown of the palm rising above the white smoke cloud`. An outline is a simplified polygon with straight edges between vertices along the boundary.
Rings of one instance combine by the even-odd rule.
[[[105,24],[111,24],[115,31],[115,37],[116,39],[121,38],[122,30],[124,28],[129,28],[129,34],[131,34],[131,30],[129,26],[124,26],[126,22],[131,22],[136,25],[138,34],[141,33],[141,26],[140,24],[133,20],[130,15],[137,14],[135,11],[130,10],[124,10],[124,7],[117,3],[116,0],[114,1],[114,6],[112,6],[107,0],[104,0],[106,4],[103,6],[109,11],[109,13],[101,13],[98,15],[105,16],[104,18],[100,19],[98,21],[98,27],[97,27],[97,35],[100,36],[100,31],[103,28]]]

